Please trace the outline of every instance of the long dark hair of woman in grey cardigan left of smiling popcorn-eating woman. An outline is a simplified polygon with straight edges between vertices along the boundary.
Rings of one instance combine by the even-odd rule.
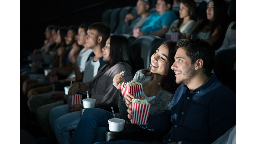
[[[125,62],[131,66],[131,44],[129,40],[124,37],[124,36],[119,36],[119,35],[112,35],[110,36],[110,63],[108,64],[109,66],[106,66],[105,69],[103,70],[106,72],[108,69],[110,69],[112,66],[119,62]],[[131,69],[128,68],[126,65],[123,65],[128,73],[131,73],[134,75],[133,68],[131,66]],[[102,74],[104,74],[101,73]],[[99,75],[98,78],[101,76]],[[98,78],[96,78],[96,82],[98,81]],[[93,85],[95,80],[91,83],[90,86]]]

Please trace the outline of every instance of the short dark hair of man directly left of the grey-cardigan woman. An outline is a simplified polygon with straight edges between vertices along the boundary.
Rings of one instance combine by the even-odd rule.
[[[91,24],[88,29],[94,29],[97,30],[98,33],[102,34],[102,42],[105,45],[107,39],[109,38],[110,35],[110,27],[102,22],[96,22]]]

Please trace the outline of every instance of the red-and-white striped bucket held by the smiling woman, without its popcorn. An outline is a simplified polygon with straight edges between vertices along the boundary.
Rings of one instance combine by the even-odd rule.
[[[124,87],[124,88],[121,88],[121,87]],[[142,91],[142,87],[143,85],[136,85],[136,86],[124,86],[124,85],[120,85],[120,88],[121,88],[121,93],[122,93],[122,96],[123,96],[123,102],[125,102],[125,95],[126,93],[131,93],[132,95],[140,98],[141,96],[141,91]]]

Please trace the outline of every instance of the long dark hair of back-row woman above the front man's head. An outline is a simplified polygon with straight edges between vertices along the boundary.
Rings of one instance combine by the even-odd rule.
[[[215,29],[219,32],[219,39],[215,44],[213,44],[213,47],[219,48],[222,45],[222,42],[225,38],[225,33],[227,30],[227,18],[228,18],[228,12],[226,3],[224,0],[211,0],[213,1],[213,9],[214,9],[214,16],[213,16],[213,25],[211,29],[210,35],[213,34]],[[206,18],[203,20],[203,22],[197,27],[195,32],[193,33],[193,38],[196,38],[199,31],[201,31],[202,28],[204,28],[205,25],[209,24],[209,20]]]

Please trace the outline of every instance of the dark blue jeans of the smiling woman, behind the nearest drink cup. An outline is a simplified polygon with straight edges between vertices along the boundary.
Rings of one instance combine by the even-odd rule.
[[[72,138],[72,144],[93,144],[106,141],[108,120],[114,118],[113,114],[99,108],[87,108],[77,125]],[[116,118],[119,118],[116,116]]]

